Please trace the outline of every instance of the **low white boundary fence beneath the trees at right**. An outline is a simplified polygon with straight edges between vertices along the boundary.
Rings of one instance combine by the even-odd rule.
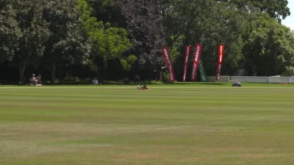
[[[208,76],[208,82],[214,82],[216,76]],[[220,82],[260,82],[260,83],[294,83],[294,77],[229,76],[221,75]]]

